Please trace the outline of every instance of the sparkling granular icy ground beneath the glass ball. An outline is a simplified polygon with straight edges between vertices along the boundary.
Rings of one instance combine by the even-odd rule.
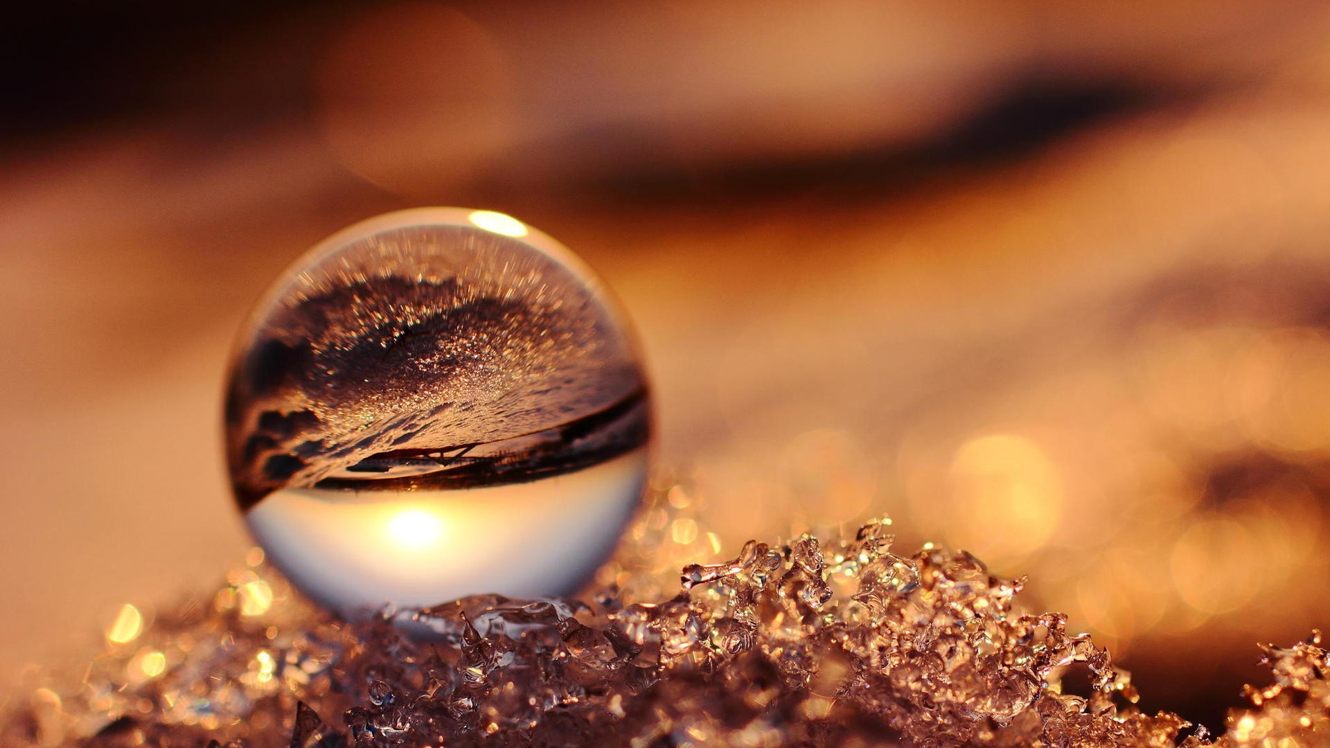
[[[211,598],[125,606],[82,677],[35,675],[3,745],[1325,745],[1318,635],[1226,735],[1146,715],[1109,652],[963,551],[892,551],[890,522],[714,558],[654,494],[585,602],[473,596],[347,624],[251,552]],[[682,574],[662,574],[670,567]],[[1253,659],[1257,650],[1253,647]]]

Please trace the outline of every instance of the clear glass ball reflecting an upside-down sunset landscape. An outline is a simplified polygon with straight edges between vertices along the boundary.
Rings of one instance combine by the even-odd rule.
[[[507,216],[418,209],[274,285],[226,433],[267,558],[354,616],[576,591],[638,503],[649,411],[624,317],[576,257]]]

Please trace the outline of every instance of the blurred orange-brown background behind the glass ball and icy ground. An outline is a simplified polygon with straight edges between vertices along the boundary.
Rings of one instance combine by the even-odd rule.
[[[1327,94],[1307,0],[11,8],[0,689],[243,558],[263,286],[464,205],[617,289],[720,555],[890,514],[1217,727],[1330,626]]]

